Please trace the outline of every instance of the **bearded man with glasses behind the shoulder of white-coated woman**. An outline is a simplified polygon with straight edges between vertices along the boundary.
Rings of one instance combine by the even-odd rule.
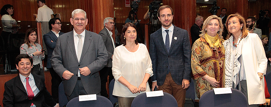
[[[255,21],[256,21],[255,17],[252,17],[252,16],[248,17],[247,21],[246,21],[246,23],[247,23],[246,27],[249,30],[249,33],[256,33],[256,34],[258,34],[259,38],[261,38],[261,35],[262,35],[261,29],[254,27]]]

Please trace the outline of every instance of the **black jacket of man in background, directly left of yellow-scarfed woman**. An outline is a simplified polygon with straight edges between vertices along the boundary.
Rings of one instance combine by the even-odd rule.
[[[201,34],[201,27],[199,27],[197,24],[194,24],[191,28],[190,28],[190,33],[191,33],[191,38],[192,38],[192,45],[194,44],[194,42],[200,38],[200,34]]]

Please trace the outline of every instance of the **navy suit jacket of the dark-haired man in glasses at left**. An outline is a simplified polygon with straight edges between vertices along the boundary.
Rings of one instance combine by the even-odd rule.
[[[59,32],[59,36],[64,34],[63,32]],[[49,31],[47,34],[43,35],[43,39],[44,39],[44,42],[45,42],[45,45],[46,45],[46,49],[47,49],[47,54],[48,54],[48,57],[47,57],[47,68],[52,68],[51,66],[51,57],[52,57],[52,53],[55,49],[55,45],[56,45],[56,41],[57,41],[57,37],[56,35],[52,32],[52,31]],[[53,42],[51,42],[53,41]]]

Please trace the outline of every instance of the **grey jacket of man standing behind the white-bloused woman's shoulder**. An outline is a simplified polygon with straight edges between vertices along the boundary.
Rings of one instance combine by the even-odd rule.
[[[108,61],[107,61],[107,65],[105,65],[106,67],[112,67],[112,55],[114,53],[114,46],[113,46],[113,43],[112,43],[112,39],[111,39],[111,36],[109,35],[109,32],[107,31],[106,28],[103,28],[103,30],[101,30],[99,32],[99,35],[102,36],[103,38],[103,43],[106,47],[106,50],[107,50],[107,54],[108,54]],[[115,45],[116,46],[116,45]]]

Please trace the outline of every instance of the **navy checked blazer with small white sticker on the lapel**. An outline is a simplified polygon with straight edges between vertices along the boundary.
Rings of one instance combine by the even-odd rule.
[[[162,28],[150,36],[150,57],[152,59],[152,81],[161,86],[169,67],[172,79],[182,85],[183,79],[191,79],[191,46],[188,32],[174,26],[169,53],[163,41]],[[169,66],[168,66],[169,65]]]

